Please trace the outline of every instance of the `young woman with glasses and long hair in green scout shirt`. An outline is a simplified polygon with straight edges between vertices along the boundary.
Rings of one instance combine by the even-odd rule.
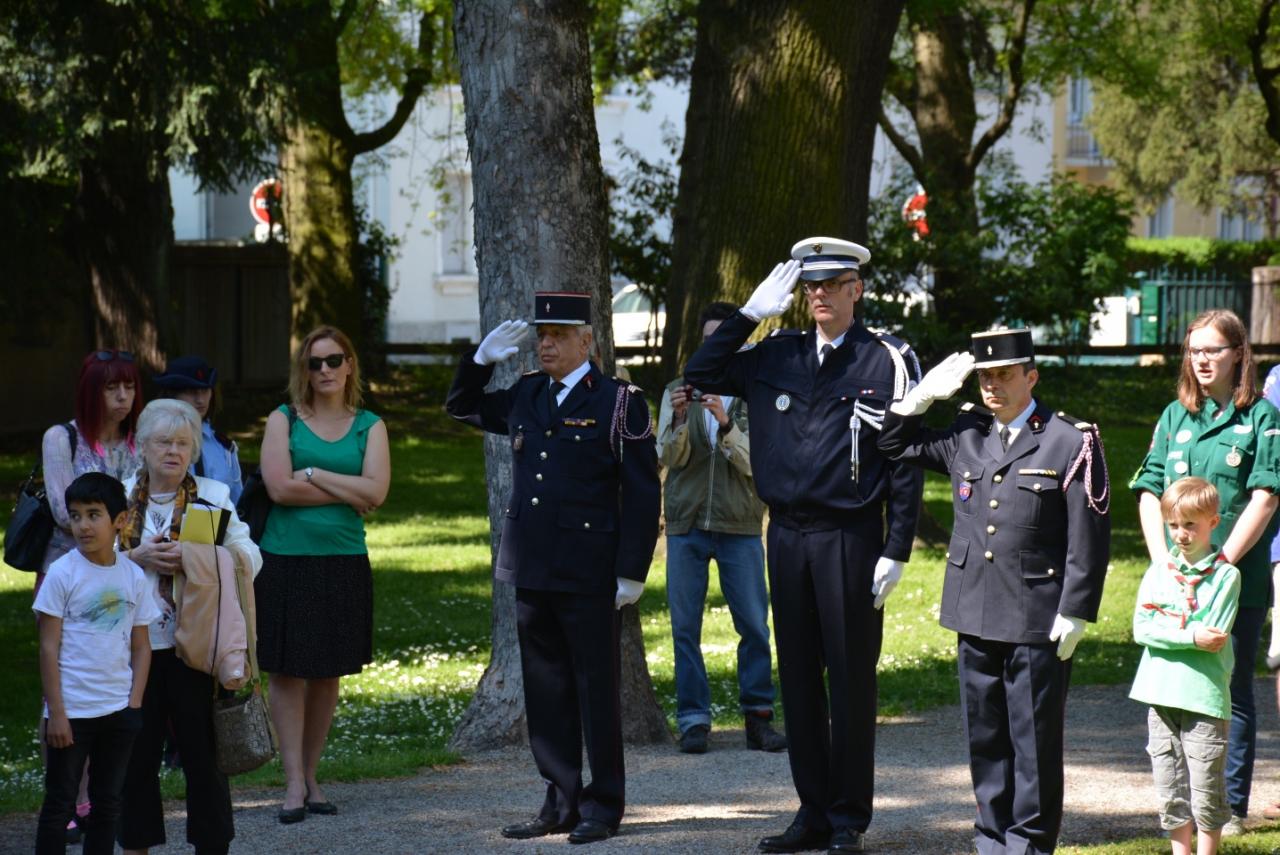
[[[1240,609],[1231,628],[1231,732],[1226,756],[1226,795],[1231,820],[1224,833],[1239,833],[1249,813],[1257,713],[1253,666],[1270,604],[1270,544],[1280,491],[1280,413],[1258,394],[1253,353],[1244,324],[1234,312],[1211,310],[1187,328],[1178,401],[1156,424],[1151,451],[1129,488],[1138,495],[1142,534],[1152,561],[1169,547],[1160,497],[1175,480],[1198,475],[1221,494],[1222,540],[1216,541],[1240,570]]]

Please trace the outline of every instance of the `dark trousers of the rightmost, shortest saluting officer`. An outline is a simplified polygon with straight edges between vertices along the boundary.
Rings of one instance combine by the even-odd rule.
[[[1071,662],[1056,644],[960,635],[960,712],[979,855],[1048,855],[1062,827],[1062,728]]]

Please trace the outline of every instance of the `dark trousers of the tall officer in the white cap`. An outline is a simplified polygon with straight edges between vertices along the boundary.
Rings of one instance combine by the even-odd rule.
[[[773,516],[767,541],[791,778],[800,797],[796,822],[865,832],[884,626],[870,591],[883,520],[877,508],[850,515],[844,527],[813,530]]]

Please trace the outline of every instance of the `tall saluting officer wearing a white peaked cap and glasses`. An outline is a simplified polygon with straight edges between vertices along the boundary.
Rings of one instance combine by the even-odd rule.
[[[685,380],[746,401],[751,471],[769,507],[769,594],[800,810],[760,850],[849,852],[872,818],[881,607],[910,558],[923,489],[923,475],[886,459],[876,435],[919,366],[905,343],[854,319],[870,252],[809,238],[791,256],[707,338]],[[786,311],[797,278],[815,326],[742,349],[762,320]]]

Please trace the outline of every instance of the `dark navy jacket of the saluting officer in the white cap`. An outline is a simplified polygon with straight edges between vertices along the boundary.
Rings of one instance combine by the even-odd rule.
[[[911,557],[920,512],[923,474],[888,461],[876,448],[877,431],[858,431],[859,477],[852,479],[855,403],[879,417],[893,399],[895,364],[881,339],[901,348],[919,380],[915,357],[901,342],[854,324],[818,367],[817,332],[778,330],[740,349],[756,323],[741,312],[717,329],[685,366],[700,390],[744,398],[751,420],[751,474],[771,518],[790,527],[829,530],[864,508],[886,503],[881,554]]]

